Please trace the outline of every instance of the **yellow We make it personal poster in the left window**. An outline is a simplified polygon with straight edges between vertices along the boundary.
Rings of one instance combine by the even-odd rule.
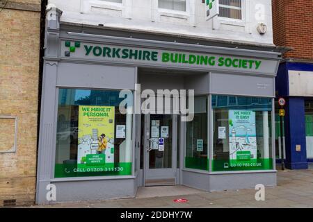
[[[114,162],[114,106],[79,105],[77,167]]]

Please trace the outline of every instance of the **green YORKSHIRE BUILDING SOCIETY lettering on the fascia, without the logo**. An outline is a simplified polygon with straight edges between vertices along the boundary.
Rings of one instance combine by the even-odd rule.
[[[83,46],[86,53],[85,56],[102,56],[104,58],[115,58],[124,60],[142,60],[142,61],[153,61],[163,63],[180,63],[188,65],[207,65],[207,66],[218,66],[218,67],[232,67],[232,68],[243,68],[243,69],[259,69],[262,65],[260,60],[248,60],[231,57],[216,57],[216,56],[204,56],[197,55],[194,53],[172,53],[168,51],[141,50],[141,49],[127,49],[117,48],[110,46]]]

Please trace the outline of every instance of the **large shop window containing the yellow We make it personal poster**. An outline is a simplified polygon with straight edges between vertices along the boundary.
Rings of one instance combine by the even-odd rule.
[[[131,114],[119,91],[59,89],[55,178],[131,174]]]

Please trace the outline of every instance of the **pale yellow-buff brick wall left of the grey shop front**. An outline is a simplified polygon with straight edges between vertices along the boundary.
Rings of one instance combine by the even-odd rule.
[[[19,4],[15,10],[12,7],[17,5],[9,2],[10,8],[0,9],[0,116],[18,118],[16,153],[0,153],[0,206],[3,201],[10,203],[7,200],[16,200],[16,205],[35,200],[40,11],[30,9],[40,9],[40,1],[14,2],[35,7],[21,10],[25,5]],[[13,130],[5,126],[13,124],[1,126],[1,140],[11,141]],[[0,150],[6,150],[7,144],[0,144]]]

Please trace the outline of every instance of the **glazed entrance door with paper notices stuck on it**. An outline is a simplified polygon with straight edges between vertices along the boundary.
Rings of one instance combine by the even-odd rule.
[[[177,115],[145,115],[145,186],[175,185]]]

